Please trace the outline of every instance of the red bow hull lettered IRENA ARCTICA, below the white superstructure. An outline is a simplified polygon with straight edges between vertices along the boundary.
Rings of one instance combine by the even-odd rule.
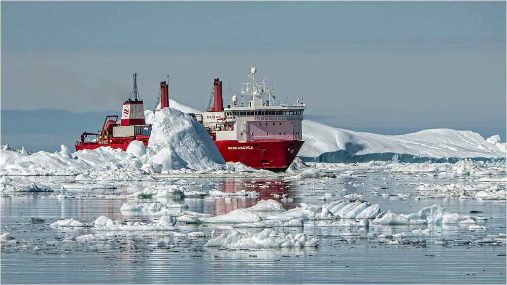
[[[303,143],[296,140],[215,141],[225,161],[274,172],[287,170]]]

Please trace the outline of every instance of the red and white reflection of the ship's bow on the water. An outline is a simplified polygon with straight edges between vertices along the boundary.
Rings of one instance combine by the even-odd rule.
[[[205,213],[213,215],[227,214],[230,211],[254,206],[260,200],[273,199],[284,206],[285,209],[295,208],[296,199],[292,201],[281,200],[283,197],[293,197],[290,183],[283,179],[224,179],[219,182],[217,190],[226,193],[235,193],[242,190],[255,191],[260,196],[229,196],[217,197],[213,202],[205,202]]]

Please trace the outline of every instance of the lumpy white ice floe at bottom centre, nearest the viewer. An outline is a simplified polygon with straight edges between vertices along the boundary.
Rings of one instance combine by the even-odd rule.
[[[308,236],[304,233],[284,233],[273,229],[264,229],[259,233],[241,233],[232,231],[215,236],[215,231],[211,234],[211,239],[206,243],[207,247],[225,247],[225,248],[302,248],[317,247],[319,238]]]

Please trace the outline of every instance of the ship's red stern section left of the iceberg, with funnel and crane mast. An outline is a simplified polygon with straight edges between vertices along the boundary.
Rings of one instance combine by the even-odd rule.
[[[136,78],[137,73],[134,73],[134,88],[132,89],[130,98],[123,103],[120,122],[118,122],[118,115],[106,116],[102,130],[97,133],[84,132],[81,134],[81,141],[76,142],[76,151],[95,149],[101,146],[121,148],[125,151],[128,144],[134,140],[142,141],[145,145],[148,145],[151,125],[147,125],[144,118],[143,100],[139,98]],[[168,87],[165,81],[160,82],[160,89],[160,108],[168,107]],[[96,136],[96,139],[85,141],[88,136]]]

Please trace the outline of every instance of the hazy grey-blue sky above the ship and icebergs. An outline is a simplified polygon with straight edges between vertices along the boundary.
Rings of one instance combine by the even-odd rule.
[[[214,78],[228,97],[255,66],[277,98],[304,98],[320,123],[493,128],[504,141],[506,10],[504,1],[2,1],[0,108],[119,113],[137,72],[145,109],[169,75],[171,99],[204,110]]]

